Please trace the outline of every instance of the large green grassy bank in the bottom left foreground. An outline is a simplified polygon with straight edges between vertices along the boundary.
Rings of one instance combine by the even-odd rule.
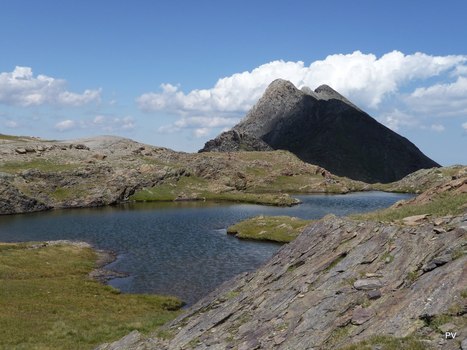
[[[90,248],[0,244],[0,349],[92,349],[178,314],[176,298],[88,279],[95,260]]]

